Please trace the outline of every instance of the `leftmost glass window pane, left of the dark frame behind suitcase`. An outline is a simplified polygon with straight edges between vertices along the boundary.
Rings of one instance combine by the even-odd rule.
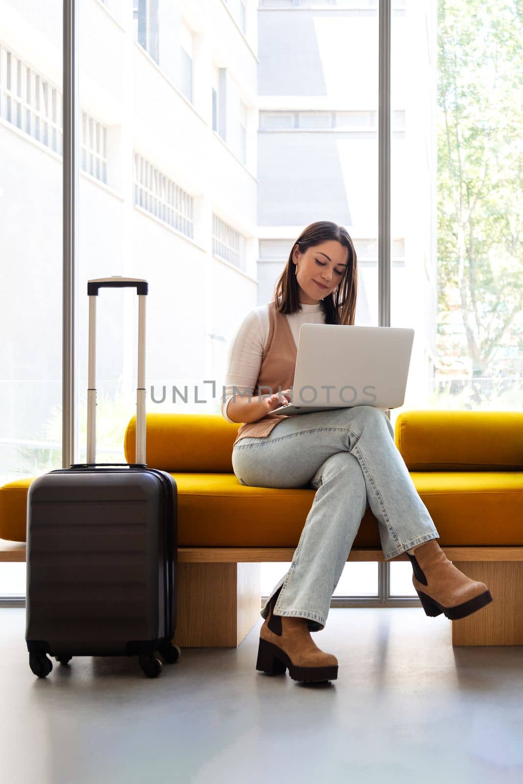
[[[0,485],[62,467],[62,8],[9,4],[8,18],[0,40]],[[24,593],[25,564],[0,562],[0,597]]]

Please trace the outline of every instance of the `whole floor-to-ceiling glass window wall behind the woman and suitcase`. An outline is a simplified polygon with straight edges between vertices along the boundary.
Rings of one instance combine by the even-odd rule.
[[[53,18],[29,15],[25,5],[13,4],[17,27],[0,42],[0,144],[11,164],[0,184],[9,216],[2,483],[61,466],[62,19],[61,8]],[[436,5],[393,4],[390,324],[415,329],[405,405],[390,412],[393,424],[403,408],[521,407],[518,19],[511,5],[499,19],[471,2],[459,13]],[[202,406],[196,401],[205,394],[187,403],[170,390],[192,390],[209,368],[220,389],[238,322],[269,301],[293,241],[315,220],[347,227],[358,253],[356,323],[379,323],[378,3],[260,0],[263,13],[252,16],[257,63],[230,15],[217,17],[230,29],[215,26],[219,4],[209,4],[209,18],[197,6],[187,7],[180,25],[160,15],[158,0],[133,0],[129,24],[119,28],[104,5],[82,5],[78,461],[85,459],[89,278],[149,281],[147,384],[169,390],[165,401],[147,401],[152,411],[219,411],[216,397]],[[194,99],[193,27],[209,37],[222,66],[209,56],[202,96],[206,102],[212,89],[212,117],[208,104],[200,115],[173,87]],[[238,59],[220,60],[217,30],[238,42]],[[169,45],[159,47],[160,34]],[[484,53],[474,62],[471,42]],[[195,91],[198,97],[198,82]],[[256,105],[252,95],[262,107],[260,132],[242,105],[242,97]],[[226,144],[211,124],[224,138],[227,129]],[[316,128],[325,132],[303,132]],[[256,152],[252,173],[242,165],[248,151],[249,162]],[[202,307],[187,296],[194,275]],[[123,434],[136,403],[136,306],[130,290],[100,292],[100,462],[125,459]],[[180,325],[183,341],[173,340]],[[281,576],[286,564],[277,565]],[[409,595],[410,564],[392,567],[394,591]],[[2,569],[0,593],[7,590]],[[351,574],[358,569],[350,565]],[[357,593],[374,595],[362,586]]]

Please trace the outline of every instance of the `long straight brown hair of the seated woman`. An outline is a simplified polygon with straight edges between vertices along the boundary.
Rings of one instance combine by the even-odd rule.
[[[320,245],[325,240],[336,240],[349,252],[347,267],[340,284],[329,296],[321,300],[325,311],[325,324],[354,324],[358,293],[358,259],[354,243],[347,230],[330,220],[318,220],[316,223],[311,223],[306,229],[303,229],[296,242],[292,243],[285,269],[274,286],[273,302],[280,313],[300,313],[300,295],[292,252],[296,245],[299,246],[300,253],[304,253],[308,248]]]

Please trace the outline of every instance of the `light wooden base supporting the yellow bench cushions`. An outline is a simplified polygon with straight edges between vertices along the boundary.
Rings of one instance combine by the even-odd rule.
[[[468,618],[450,621],[452,645],[523,645],[523,547],[442,549],[463,574],[485,583],[494,600]],[[290,563],[293,554],[291,547],[180,547],[176,644],[237,648],[261,618],[260,564]],[[383,560],[381,550],[353,550],[347,559]],[[25,545],[0,540],[0,561],[25,561]]]

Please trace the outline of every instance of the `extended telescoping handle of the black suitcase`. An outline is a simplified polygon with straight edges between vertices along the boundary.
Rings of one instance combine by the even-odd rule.
[[[99,289],[136,288],[138,295],[138,383],[136,389],[136,463],[145,465],[145,297],[147,281],[141,278],[96,278],[87,281],[89,296],[89,383],[87,390],[87,463],[96,461],[96,297]],[[107,463],[100,463],[107,465]],[[120,465],[120,463],[118,463]],[[127,465],[127,463],[122,463]]]

